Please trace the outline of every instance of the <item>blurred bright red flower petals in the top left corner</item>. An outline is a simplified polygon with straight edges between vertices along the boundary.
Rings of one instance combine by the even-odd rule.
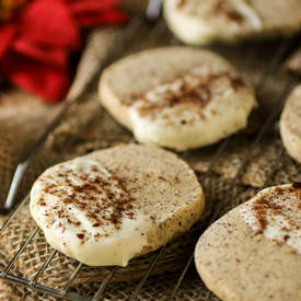
[[[26,1],[13,19],[0,23],[1,76],[45,100],[61,100],[70,85],[70,50],[81,45],[80,27],[125,22],[118,2]]]

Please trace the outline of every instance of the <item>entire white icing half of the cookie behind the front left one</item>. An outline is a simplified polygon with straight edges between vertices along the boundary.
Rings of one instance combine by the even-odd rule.
[[[245,127],[255,105],[241,78],[207,65],[153,88],[130,105],[129,116],[138,141],[186,150]]]

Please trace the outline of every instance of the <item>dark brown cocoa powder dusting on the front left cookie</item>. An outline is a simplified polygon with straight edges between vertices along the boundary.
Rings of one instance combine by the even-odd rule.
[[[53,181],[49,184],[47,178],[43,180],[43,195],[38,201],[40,206],[46,206],[45,199],[49,195],[58,199],[51,202],[50,210],[55,220],[59,220],[59,228],[63,224],[81,225],[81,222],[70,211],[73,207],[86,216],[93,228],[108,222],[114,224],[115,229],[119,229],[123,218],[135,219],[134,199],[117,178],[104,175],[96,165],[81,172],[61,169],[55,175],[57,176],[55,184]],[[45,211],[45,215],[48,213]],[[83,233],[78,233],[77,236],[82,241],[86,238]],[[99,235],[93,234],[93,236]]]

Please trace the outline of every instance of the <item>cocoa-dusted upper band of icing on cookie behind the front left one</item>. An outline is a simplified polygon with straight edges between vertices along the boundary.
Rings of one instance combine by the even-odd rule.
[[[235,84],[246,86],[236,76],[217,70],[215,66],[202,66],[148,91],[131,105],[131,111],[141,117],[163,120],[170,119],[170,111],[177,111],[173,116],[175,124],[181,123],[183,114],[189,121],[197,120],[210,116],[210,109],[206,107],[210,106],[212,100],[236,90]]]

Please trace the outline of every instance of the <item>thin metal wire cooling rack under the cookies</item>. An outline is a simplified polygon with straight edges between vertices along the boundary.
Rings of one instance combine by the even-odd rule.
[[[150,8],[149,7],[149,11],[150,11],[151,14],[153,14],[153,13],[155,14],[155,8],[153,8],[153,7]],[[121,56],[123,46],[126,43],[130,42],[131,36],[137,31],[139,31],[141,28],[141,26],[148,26],[150,28],[150,25],[149,24],[146,25],[146,22],[142,18],[136,18],[127,25],[127,27],[125,28],[125,31],[123,33],[123,39],[121,39],[123,42],[120,42],[120,39],[118,40],[118,45],[115,46],[116,47],[115,49],[112,49],[111,56],[106,59],[106,62],[102,63],[102,66],[99,70],[99,73],[102,71],[102,69],[107,63],[109,63],[109,61],[112,61],[112,59],[116,59],[118,56]],[[162,20],[159,20],[154,24],[151,25],[151,30],[149,30],[149,34],[146,38],[155,40],[155,39],[162,37],[163,32],[165,32],[165,44],[177,44],[178,43],[166,31],[165,24],[164,24],[164,22],[162,22]],[[167,40],[167,43],[166,43],[166,40]],[[293,46],[293,40],[292,39],[286,39],[286,40],[281,40],[281,42],[278,43],[277,49],[275,49],[273,57],[270,57],[264,72],[261,76],[261,79],[257,81],[257,86],[256,86],[257,94],[259,94],[261,90],[265,86],[268,79],[274,74],[274,72],[276,72],[276,70],[278,69],[280,62],[286,57],[288,51],[291,50],[292,46]],[[113,58],[112,58],[112,53],[115,54],[115,56]],[[254,63],[256,63],[256,60],[254,60]],[[227,202],[230,202],[231,199],[235,199],[238,197],[239,193],[238,193],[238,190],[234,189],[234,187],[235,187],[235,185],[238,185],[239,178],[244,174],[255,149],[261,143],[261,141],[265,138],[265,135],[271,128],[275,127],[276,120],[279,117],[279,114],[282,109],[282,105],[283,105],[283,103],[287,99],[287,95],[289,94],[289,92],[291,91],[291,89],[293,88],[294,84],[296,84],[296,79],[292,78],[292,77],[288,77],[287,82],[283,84],[281,93],[278,95],[279,100],[276,102],[277,105],[275,105],[270,109],[269,116],[263,123],[263,125],[262,125],[261,129],[258,130],[257,135],[255,136],[255,138],[250,142],[250,150],[244,155],[239,170],[236,171],[235,175],[231,180],[229,189],[225,193]],[[25,160],[20,163],[20,165],[16,170],[14,180],[12,181],[10,194],[8,196],[8,201],[7,201],[7,207],[8,208],[11,207],[11,205],[12,205],[12,201],[13,201],[14,196],[15,196],[16,190],[18,190],[19,183],[20,183],[20,181],[21,181],[21,178],[24,174],[25,169],[27,167],[27,162],[35,154],[36,150],[42,147],[42,144],[46,140],[47,136],[61,121],[61,119],[65,117],[66,112],[69,109],[69,107],[73,103],[76,103],[77,101],[78,101],[78,99],[73,99],[73,100],[66,103],[66,105],[62,108],[62,111],[60,112],[60,114],[51,123],[51,125],[49,126],[47,131],[45,131],[44,136],[39,139],[37,144],[27,153],[27,155],[25,157]],[[222,155],[223,151],[227,148],[229,148],[229,146],[231,146],[231,138],[224,139],[219,144],[219,148],[217,149],[216,153],[213,153],[212,157],[211,157],[210,165],[209,165],[209,170],[207,171],[207,174],[210,174],[212,172],[216,162]],[[285,151],[283,147],[280,147],[280,149],[278,151],[278,154],[277,154],[277,158],[273,162],[273,166],[271,166],[269,173],[266,175],[264,185],[262,185],[262,187],[259,187],[258,189],[262,189],[262,188],[264,188],[264,187],[266,187],[270,184],[270,181],[271,181],[273,176],[278,171],[279,166],[281,166],[285,153],[286,153],[286,151]],[[211,187],[209,187],[209,189]],[[24,198],[24,200],[14,209],[14,211],[11,213],[9,219],[3,223],[2,228],[0,229],[0,235],[10,225],[10,222],[16,217],[20,209],[28,202],[28,198],[30,197],[26,196]],[[218,208],[216,208],[213,213],[209,217],[209,220],[207,221],[207,225],[212,223],[218,217],[219,217],[219,210],[218,210]],[[55,289],[55,288],[51,288],[51,287],[48,287],[48,286],[45,286],[45,285],[42,285],[42,283],[38,282],[39,277],[43,275],[45,269],[49,266],[53,258],[57,254],[57,251],[55,251],[55,250],[50,253],[50,255],[45,261],[45,263],[40,266],[40,268],[38,270],[36,270],[36,274],[33,276],[33,279],[25,279],[25,278],[18,277],[18,276],[14,276],[14,275],[10,274],[10,270],[13,267],[13,265],[15,264],[15,262],[20,259],[20,256],[21,256],[22,252],[28,246],[28,244],[31,244],[34,236],[38,233],[38,231],[39,231],[39,229],[36,227],[28,234],[27,240],[25,241],[25,243],[14,254],[14,256],[11,258],[9,264],[3,268],[3,270],[0,270],[0,278],[2,278],[2,280],[8,280],[8,281],[15,282],[18,285],[21,285],[21,286],[30,287],[34,290],[40,291],[40,292],[46,293],[46,294],[50,294],[50,296],[59,297],[59,298],[65,298],[67,300],[76,300],[76,301],[102,300],[102,298],[105,293],[105,290],[107,289],[107,285],[111,282],[111,279],[113,278],[117,267],[112,267],[112,269],[108,273],[108,275],[106,276],[106,278],[102,282],[100,282],[100,287],[95,291],[95,293],[92,298],[88,298],[88,297],[84,297],[84,296],[81,296],[79,293],[74,293],[74,292],[70,291],[70,287],[71,287],[72,282],[74,281],[74,279],[77,278],[79,271],[83,267],[83,265],[81,263],[77,264],[77,266],[74,267],[74,270],[72,271],[69,280],[65,283],[65,287],[61,288],[61,289]],[[149,279],[149,276],[150,276],[151,271],[154,269],[158,261],[163,256],[164,250],[165,250],[165,246],[161,247],[160,250],[158,250],[154,253],[154,256],[153,256],[153,258],[152,258],[152,261],[151,261],[151,263],[148,267],[148,270],[146,271],[144,276],[138,281],[136,288],[132,290],[132,293],[131,293],[131,297],[129,298],[129,300],[136,300],[137,299],[137,297],[139,296],[139,292],[141,291],[144,283]],[[193,254],[189,256],[189,258],[188,258],[187,263],[185,264],[182,273],[180,274],[177,281],[175,282],[175,286],[173,288],[171,288],[170,292],[167,293],[166,300],[173,300],[173,299],[176,298],[177,291],[181,288],[181,285],[182,285],[184,278],[185,278],[185,275],[186,275],[189,266],[192,265],[192,262],[193,262]],[[208,291],[208,294],[207,294],[206,299],[210,300],[210,297],[211,297],[211,293]]]

